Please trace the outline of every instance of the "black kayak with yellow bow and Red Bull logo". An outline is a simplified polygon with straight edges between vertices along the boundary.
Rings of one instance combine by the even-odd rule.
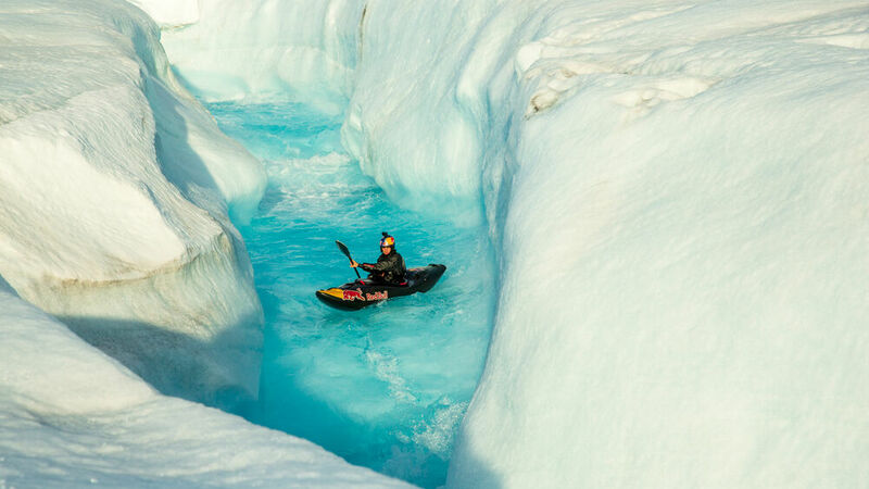
[[[326,305],[345,311],[357,311],[393,297],[428,292],[445,271],[444,265],[432,263],[428,266],[407,269],[407,275],[405,275],[407,281],[401,285],[383,284],[366,278],[340,287],[317,290],[316,293],[317,299]]]

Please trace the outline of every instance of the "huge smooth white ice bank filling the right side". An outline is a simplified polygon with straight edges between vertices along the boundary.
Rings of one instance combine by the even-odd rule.
[[[509,75],[506,264],[450,484],[867,484],[869,58],[804,40],[869,16],[582,7]]]

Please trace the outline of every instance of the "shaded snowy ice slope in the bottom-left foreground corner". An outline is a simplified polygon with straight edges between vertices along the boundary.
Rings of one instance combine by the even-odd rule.
[[[407,487],[156,393],[0,278],[0,487]]]

